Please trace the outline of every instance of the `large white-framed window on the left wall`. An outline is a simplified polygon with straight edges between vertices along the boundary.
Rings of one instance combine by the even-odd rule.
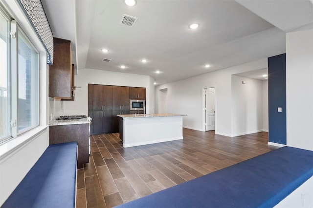
[[[0,143],[38,125],[39,53],[0,9]]]

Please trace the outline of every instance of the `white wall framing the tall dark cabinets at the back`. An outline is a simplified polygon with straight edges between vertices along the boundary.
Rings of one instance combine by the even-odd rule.
[[[150,76],[82,69],[75,76],[75,86],[81,87],[75,91],[75,101],[60,101],[64,115],[88,114],[88,84],[145,87],[146,113],[154,113],[154,79]]]

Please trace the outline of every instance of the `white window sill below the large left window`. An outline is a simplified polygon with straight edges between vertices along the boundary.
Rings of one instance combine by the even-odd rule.
[[[11,152],[14,152],[18,148],[22,147],[24,144],[30,142],[32,139],[36,138],[42,132],[47,130],[48,126],[38,126],[22,135],[12,138],[7,142],[0,145],[0,160],[4,159]]]

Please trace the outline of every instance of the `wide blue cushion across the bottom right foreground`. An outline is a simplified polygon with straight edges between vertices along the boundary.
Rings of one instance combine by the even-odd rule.
[[[273,207],[313,175],[313,151],[283,147],[118,208]]]

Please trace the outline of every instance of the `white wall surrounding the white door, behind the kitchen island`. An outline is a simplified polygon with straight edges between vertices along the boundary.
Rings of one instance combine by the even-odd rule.
[[[168,112],[187,114],[187,116],[183,118],[184,127],[205,131],[202,127],[202,119],[204,116],[202,113],[202,89],[215,86],[217,120],[215,133],[231,136],[231,75],[267,67],[268,60],[264,58],[258,61],[160,85],[156,87],[155,92],[157,95],[159,89],[167,88]],[[157,96],[155,103],[157,106]]]

